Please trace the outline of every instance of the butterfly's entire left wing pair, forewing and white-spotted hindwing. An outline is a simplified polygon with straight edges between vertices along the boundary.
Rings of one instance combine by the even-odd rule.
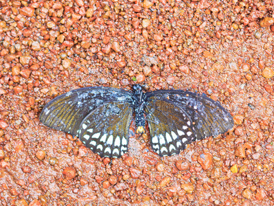
[[[50,128],[78,136],[100,157],[121,157],[128,149],[132,97],[122,89],[76,89],[50,101],[40,120]]]

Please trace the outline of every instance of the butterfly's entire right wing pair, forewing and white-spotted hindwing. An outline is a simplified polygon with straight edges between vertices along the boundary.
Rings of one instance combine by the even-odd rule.
[[[226,133],[233,118],[218,102],[189,91],[145,93],[150,144],[161,156],[175,155],[196,139]]]

